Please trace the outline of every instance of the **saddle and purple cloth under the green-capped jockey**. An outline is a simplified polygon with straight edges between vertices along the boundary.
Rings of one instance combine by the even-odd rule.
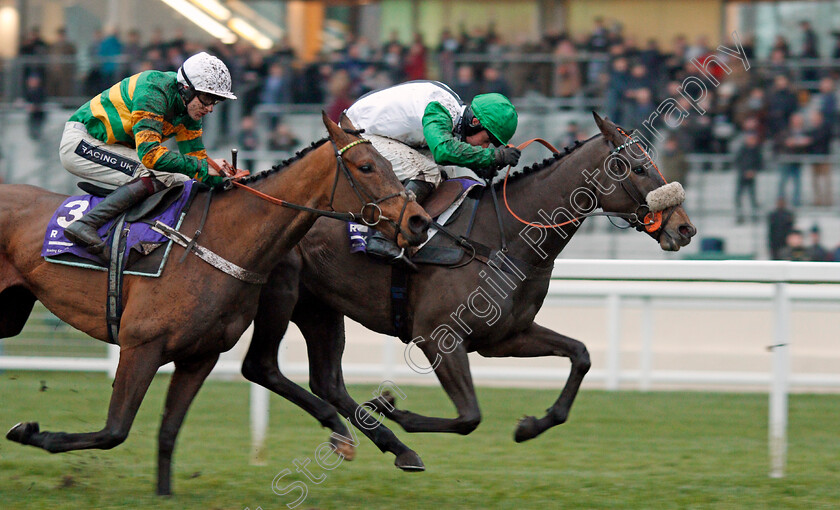
[[[435,219],[443,226],[450,226],[461,215],[462,211],[472,209],[476,200],[468,199],[470,191],[481,188],[484,184],[468,177],[457,177],[443,181],[428,200],[422,205]],[[463,207],[462,207],[463,206]],[[472,207],[470,207],[472,206]],[[467,231],[453,232],[460,235],[469,235],[469,228],[472,221],[465,225]],[[458,262],[464,254],[463,249],[446,236],[435,236],[438,229],[429,228],[429,238],[420,245],[417,252],[412,255],[411,261],[418,264],[439,264],[452,265]],[[347,235],[350,239],[350,253],[365,253],[367,251],[368,237],[373,230],[359,223],[349,222],[347,224]]]

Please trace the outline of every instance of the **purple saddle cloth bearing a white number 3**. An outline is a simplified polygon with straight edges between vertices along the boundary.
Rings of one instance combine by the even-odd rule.
[[[189,203],[192,192],[192,186],[195,181],[186,181],[184,183],[184,192],[175,200],[165,211],[158,214],[155,218],[146,218],[144,221],[134,223],[125,223],[124,228],[129,229],[126,238],[126,251],[135,249],[142,254],[148,254],[150,250],[146,248],[150,245],[155,247],[169,242],[169,239],[152,230],[151,225],[145,223],[150,221],[154,224],[155,220],[165,223],[173,228],[177,228],[178,220],[181,217],[181,211]],[[99,202],[104,200],[102,197],[93,195],[80,195],[68,197],[53,214],[50,222],[47,224],[47,232],[44,236],[44,246],[41,249],[42,257],[57,257],[59,255],[72,254],[77,257],[90,260],[96,265],[101,265],[102,261],[96,255],[91,255],[84,248],[77,246],[73,242],[64,237],[64,229],[71,223],[81,218],[87,211],[95,207]],[[114,218],[99,230],[99,235],[103,240],[108,232],[113,227],[118,218]]]

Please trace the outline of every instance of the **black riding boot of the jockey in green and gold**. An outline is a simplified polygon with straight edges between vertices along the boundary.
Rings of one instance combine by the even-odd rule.
[[[152,177],[142,177],[124,184],[105,197],[102,202],[64,229],[64,236],[85,248],[92,255],[102,256],[106,243],[97,230],[115,216],[127,211],[152,195],[163,183]]]

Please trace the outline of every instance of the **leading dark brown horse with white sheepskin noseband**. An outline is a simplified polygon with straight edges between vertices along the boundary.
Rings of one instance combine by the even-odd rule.
[[[493,252],[498,255],[495,267],[478,260],[457,268],[421,265],[419,272],[410,276],[405,310],[410,334],[403,335],[403,340],[413,343],[407,344],[406,361],[416,371],[434,370],[457,417],[428,417],[400,410],[388,396],[360,407],[348,394],[341,369],[344,318],[378,333],[396,336],[399,332],[392,319],[392,269],[349,253],[346,228],[330,220],[316,224],[263,287],[243,375],[295,402],[334,433],[345,434],[333,426],[337,409],[383,452],[396,455],[395,464],[404,470],[422,470],[423,463],[368,411],[381,413],[408,432],[469,434],[481,421],[469,352],[486,357],[569,358],[571,372],[559,398],[545,416],[523,418],[514,438],[526,441],[564,423],[590,368],[589,353],[580,341],[536,324],[534,317],[548,291],[555,258],[583,221],[570,221],[567,213],[598,206],[618,216],[629,215],[636,218],[637,227],[645,227],[643,230],[669,251],[687,245],[696,233],[677,204],[661,211],[659,224],[642,223],[648,193],[663,189],[664,178],[644,149],[628,142],[624,130],[594,116],[600,134],[567,150],[567,155],[555,154],[505,183],[509,213],[503,211],[497,217],[491,193],[484,192],[469,240],[504,250],[504,257]],[[619,168],[622,161],[623,170]],[[530,225],[523,228],[514,215],[524,216]],[[557,223],[558,218],[567,221]],[[453,229],[467,221],[469,214],[462,214]],[[538,228],[534,222],[555,228]],[[309,384],[315,395],[283,376],[278,367],[277,352],[289,321],[306,339]],[[427,360],[422,364],[417,362],[418,349]]]

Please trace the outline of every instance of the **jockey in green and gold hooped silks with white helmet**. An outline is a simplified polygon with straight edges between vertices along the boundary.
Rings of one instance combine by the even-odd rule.
[[[209,159],[201,140],[201,118],[221,101],[236,99],[230,83],[225,64],[201,52],[177,73],[143,71],[79,108],[64,127],[61,164],[116,190],[71,223],[65,236],[99,255],[105,243],[97,229],[149,195],[189,179],[215,185],[246,175],[225,160]],[[180,154],[162,144],[173,135]]]

